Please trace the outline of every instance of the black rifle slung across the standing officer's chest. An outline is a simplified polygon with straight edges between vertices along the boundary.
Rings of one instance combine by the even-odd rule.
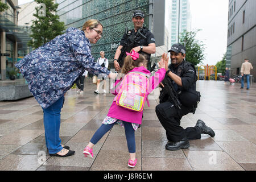
[[[126,40],[125,45],[122,47],[121,53],[120,53],[120,55],[118,57],[118,61],[117,61],[119,63],[120,67],[122,67],[122,65],[123,65],[123,60],[125,59],[125,52],[130,52],[132,48],[136,47],[139,40],[147,39],[146,36],[144,36],[141,33],[141,31],[142,31],[142,28],[139,28],[133,38],[131,38],[130,36],[128,37],[129,42],[130,42],[129,44]]]

